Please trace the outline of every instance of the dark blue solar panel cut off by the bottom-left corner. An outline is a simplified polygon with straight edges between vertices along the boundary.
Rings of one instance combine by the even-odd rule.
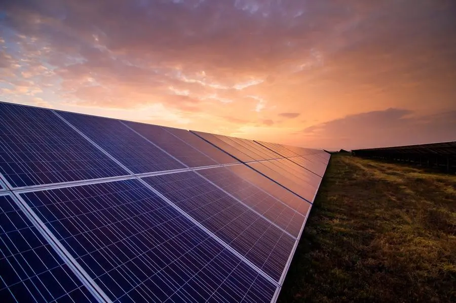
[[[9,195],[0,196],[0,298],[96,302]]]

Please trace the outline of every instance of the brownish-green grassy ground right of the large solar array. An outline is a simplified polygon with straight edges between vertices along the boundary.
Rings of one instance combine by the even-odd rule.
[[[331,158],[279,302],[456,302],[456,177]]]

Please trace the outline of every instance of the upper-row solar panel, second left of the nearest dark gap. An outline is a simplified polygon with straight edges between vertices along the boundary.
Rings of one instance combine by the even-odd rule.
[[[124,123],[147,138],[147,140],[154,142],[166,150],[169,154],[182,161],[182,163],[188,167],[217,164],[217,162],[213,159],[193,148],[191,145],[188,145],[178,139],[161,126],[129,121],[125,121]]]

